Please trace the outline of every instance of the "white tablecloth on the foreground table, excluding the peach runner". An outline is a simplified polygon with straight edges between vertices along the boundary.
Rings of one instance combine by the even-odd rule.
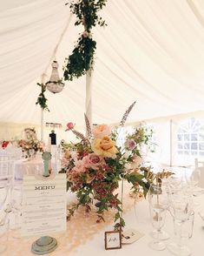
[[[204,221],[202,222],[201,218],[198,215],[198,211],[204,212],[204,195],[195,199],[199,202],[199,205],[195,206],[195,216],[194,216],[194,233],[191,239],[184,241],[186,245],[192,251],[194,256],[204,255]],[[135,212],[137,212],[135,216]],[[136,230],[143,232],[145,235],[137,240],[134,244],[123,245],[122,249],[117,250],[104,250],[104,232],[112,230],[112,226],[109,226],[104,230],[104,232],[98,233],[93,240],[87,243],[84,246],[80,246],[76,253],[72,253],[71,256],[135,256],[135,255],[151,255],[151,256],[170,256],[172,253],[168,252],[168,249],[164,251],[155,251],[151,249],[148,244],[152,240],[149,233],[153,230],[153,227],[150,224],[149,211],[148,211],[148,200],[143,200],[136,205],[135,209],[132,209],[125,215],[126,228],[135,228]],[[203,226],[202,226],[203,225]],[[173,218],[170,213],[167,214],[167,219],[165,226],[163,227],[165,231],[170,234],[170,239],[164,241],[167,245],[168,243],[174,241],[174,223]],[[63,255],[62,255],[63,256]],[[64,255],[65,256],[65,255]]]

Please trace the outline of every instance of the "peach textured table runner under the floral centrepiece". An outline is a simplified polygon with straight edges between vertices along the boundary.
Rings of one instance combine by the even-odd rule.
[[[123,213],[128,212],[133,205],[135,200],[129,196],[129,185],[125,185],[124,199],[123,199]],[[69,207],[69,205],[68,205]],[[80,207],[74,217],[67,221],[67,232],[53,235],[57,239],[58,247],[53,253],[49,253],[50,256],[69,256],[74,253],[78,246],[86,244],[89,240],[93,239],[94,236],[104,230],[109,231],[106,227],[112,224],[114,230],[114,216],[115,211],[109,210],[105,212],[105,222],[96,223],[97,216],[95,214],[95,206],[91,206],[91,212],[86,213],[83,207]],[[35,255],[30,252],[32,243],[39,237],[32,237],[29,239],[13,239],[12,232],[9,233],[9,245],[7,251],[3,254],[5,256],[30,256]],[[103,246],[102,237],[102,246]],[[104,249],[105,250],[105,249]]]

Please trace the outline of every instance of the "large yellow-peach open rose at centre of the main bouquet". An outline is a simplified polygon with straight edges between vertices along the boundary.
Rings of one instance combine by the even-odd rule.
[[[118,152],[115,147],[115,141],[109,136],[95,138],[91,147],[95,154],[105,158],[115,158],[115,154]]]

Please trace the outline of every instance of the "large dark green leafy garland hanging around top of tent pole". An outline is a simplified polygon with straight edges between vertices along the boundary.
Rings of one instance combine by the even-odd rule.
[[[101,27],[106,25],[102,17],[97,15],[106,2],[107,0],[79,0],[77,3],[70,3],[71,12],[77,17],[75,25],[82,24],[85,30],[78,38],[72,54],[66,58],[68,62],[63,67],[64,80],[72,81],[73,78],[81,77],[86,71],[93,69],[96,42],[92,39],[90,30],[96,24]]]

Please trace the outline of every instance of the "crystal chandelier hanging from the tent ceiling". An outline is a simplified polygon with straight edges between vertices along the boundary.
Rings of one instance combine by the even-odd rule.
[[[49,78],[49,81],[45,84],[47,89],[53,93],[58,93],[60,91],[63,91],[63,79],[60,79],[59,73],[58,73],[58,63],[56,60],[52,63],[52,72],[51,77]]]

